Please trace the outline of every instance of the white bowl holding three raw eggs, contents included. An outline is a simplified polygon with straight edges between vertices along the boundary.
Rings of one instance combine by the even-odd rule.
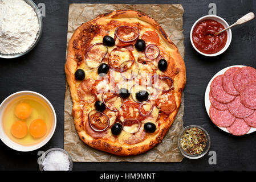
[[[56,113],[42,94],[21,91],[0,105],[0,139],[17,151],[33,151],[46,144],[56,128]]]

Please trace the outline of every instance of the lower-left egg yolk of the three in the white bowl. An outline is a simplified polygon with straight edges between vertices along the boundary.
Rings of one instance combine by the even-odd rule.
[[[16,138],[24,138],[27,135],[27,124],[23,121],[13,123],[11,134]]]

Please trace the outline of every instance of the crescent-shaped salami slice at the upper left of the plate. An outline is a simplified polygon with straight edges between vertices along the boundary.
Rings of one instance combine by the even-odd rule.
[[[210,85],[210,92],[212,93],[213,98],[222,103],[229,103],[235,99],[235,96],[226,93],[222,86],[222,77],[223,75],[219,75],[212,81]]]

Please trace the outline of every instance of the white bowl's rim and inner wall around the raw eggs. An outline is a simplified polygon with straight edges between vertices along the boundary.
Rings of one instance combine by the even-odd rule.
[[[20,96],[25,96],[25,95],[35,96],[35,97],[40,98],[42,101],[46,102],[46,104],[50,107],[51,114],[54,118],[54,121],[53,121],[54,123],[52,125],[52,129],[51,129],[50,133],[48,134],[48,136],[42,142],[37,143],[32,146],[22,146],[21,144],[13,142],[13,140],[11,140],[9,137],[7,137],[7,135],[5,134],[5,131],[3,131],[3,127],[2,127],[2,116],[3,116],[3,111],[5,110],[6,106],[15,98],[20,97]],[[51,139],[51,137],[54,134],[54,131],[56,129],[56,121],[57,121],[57,119],[56,119],[56,113],[55,113],[54,107],[51,105],[51,102],[48,101],[46,97],[44,97],[43,95],[41,95],[39,93],[32,92],[32,91],[16,92],[16,93],[11,94],[9,97],[7,97],[0,105],[0,139],[8,147],[13,148],[14,150],[22,151],[22,152],[33,151],[33,150],[36,150],[36,149],[44,146],[44,144],[46,144]]]

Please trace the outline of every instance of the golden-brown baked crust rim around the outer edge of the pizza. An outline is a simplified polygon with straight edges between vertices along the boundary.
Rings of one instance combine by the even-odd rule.
[[[82,50],[86,50],[90,45],[90,42],[94,37],[94,28],[97,27],[97,22],[104,21],[104,19],[117,18],[137,18],[151,24],[155,28],[155,30],[159,32],[159,35],[161,35],[161,38],[168,44],[170,49],[172,49],[172,60],[168,60],[168,71],[166,71],[166,75],[169,77],[174,76],[174,96],[176,98],[177,108],[169,115],[169,117],[165,121],[160,121],[161,125],[157,133],[147,133],[147,138],[143,140],[143,142],[137,144],[123,144],[107,138],[95,139],[86,133],[83,126],[83,120],[85,118],[83,118],[83,112],[80,109],[80,102],[75,84],[76,80],[74,78],[74,73],[78,68],[80,62],[82,62],[83,60],[82,57],[84,56],[84,53]],[[78,40],[83,41],[79,42]],[[70,92],[73,102],[72,115],[74,117],[75,129],[78,132],[79,138],[91,147],[115,155],[141,154],[161,142],[162,138],[164,138],[166,132],[169,130],[178,113],[178,109],[180,108],[181,104],[182,91],[186,83],[185,64],[180,53],[178,52],[177,47],[172,43],[172,41],[166,35],[165,31],[161,28],[159,23],[157,23],[153,18],[150,18],[148,15],[133,10],[117,10],[110,13],[102,14],[97,16],[90,22],[83,23],[80,27],[78,27],[68,44],[65,72],[68,85],[70,86]]]

